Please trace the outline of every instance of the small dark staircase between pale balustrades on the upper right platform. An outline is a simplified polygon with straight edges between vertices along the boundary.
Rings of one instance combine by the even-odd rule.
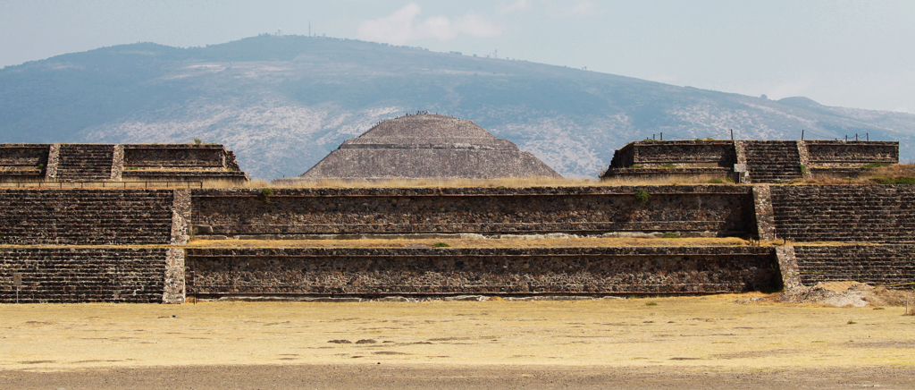
[[[784,183],[803,177],[797,141],[747,141],[749,179],[754,184]]]

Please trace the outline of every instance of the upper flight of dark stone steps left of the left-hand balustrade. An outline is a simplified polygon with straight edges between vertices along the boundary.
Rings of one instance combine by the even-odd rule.
[[[169,244],[172,190],[0,190],[0,244]]]

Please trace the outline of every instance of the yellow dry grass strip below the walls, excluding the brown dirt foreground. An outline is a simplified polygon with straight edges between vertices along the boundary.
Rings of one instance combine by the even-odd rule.
[[[735,303],[754,296],[760,294],[0,305],[0,366],[56,371],[376,362],[707,370],[915,365],[915,317],[902,316],[902,308]]]

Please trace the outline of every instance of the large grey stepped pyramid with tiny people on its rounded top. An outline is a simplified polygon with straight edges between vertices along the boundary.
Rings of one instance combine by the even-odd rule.
[[[444,115],[405,115],[330,152],[299,179],[560,178],[507,139]]]

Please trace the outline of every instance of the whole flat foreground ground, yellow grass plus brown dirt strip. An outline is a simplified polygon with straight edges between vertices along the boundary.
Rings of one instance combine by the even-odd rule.
[[[915,388],[903,308],[753,297],[0,305],[0,388]]]

